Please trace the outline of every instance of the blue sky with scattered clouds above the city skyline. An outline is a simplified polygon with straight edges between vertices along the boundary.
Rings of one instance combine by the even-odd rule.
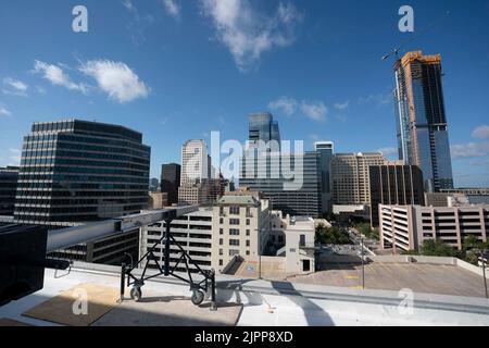
[[[88,9],[88,33],[72,9]],[[5,0],[0,2],[0,165],[15,164],[35,121],[80,117],[143,133],[151,175],[181,144],[221,130],[246,140],[272,111],[285,139],[394,158],[392,61],[441,53],[456,186],[489,186],[489,0]],[[124,86],[122,88],[121,86]]]

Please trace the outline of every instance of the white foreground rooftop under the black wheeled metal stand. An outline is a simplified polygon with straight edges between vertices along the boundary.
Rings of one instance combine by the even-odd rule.
[[[277,281],[255,281],[217,276],[217,312],[210,311],[209,299],[192,307],[189,287],[175,278],[158,277],[145,284],[142,301],[113,303],[111,293],[120,284],[120,269],[75,263],[70,274],[47,270],[43,289],[0,307],[3,325],[60,325],[23,315],[73,288],[90,284],[88,301],[106,306],[102,315],[82,321],[88,325],[239,325],[239,326],[444,326],[489,325],[489,300],[414,294],[405,308],[397,291],[359,290]],[[111,288],[112,290],[108,290]],[[100,293],[100,296],[90,294]],[[66,297],[65,297],[66,298]],[[112,298],[112,299],[111,299]],[[62,301],[63,302],[63,301]],[[70,304],[70,301],[64,301]],[[58,301],[58,303],[60,303]],[[238,303],[238,304],[237,304]],[[66,307],[66,304],[64,304]],[[55,307],[64,314],[65,309]],[[99,307],[100,309],[100,307]],[[103,309],[103,308],[101,308]],[[88,307],[90,313],[90,304]],[[47,309],[42,313],[52,313]],[[59,313],[57,313],[59,314]],[[95,322],[92,320],[96,320]],[[73,323],[72,319],[66,321]],[[78,321],[79,323],[79,321]]]

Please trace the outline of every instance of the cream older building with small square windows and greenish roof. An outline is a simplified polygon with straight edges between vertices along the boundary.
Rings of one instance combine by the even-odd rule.
[[[256,261],[266,247],[269,223],[268,201],[259,194],[222,197],[213,209],[212,268],[221,273],[237,257]]]

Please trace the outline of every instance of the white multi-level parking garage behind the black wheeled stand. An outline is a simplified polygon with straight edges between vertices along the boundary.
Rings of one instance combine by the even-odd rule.
[[[201,208],[199,211],[178,216],[171,223],[172,236],[202,270],[211,269],[212,221],[212,208]],[[166,223],[164,221],[141,228],[139,243],[140,258],[163,238],[165,231]],[[160,258],[160,262],[163,257],[161,246],[156,248],[154,254]],[[180,260],[180,256],[181,251],[178,246],[172,244],[170,258],[172,268]],[[142,263],[140,266],[143,268],[145,265],[146,264]],[[155,269],[155,265],[154,263],[150,263],[148,268]],[[196,266],[192,264],[189,264],[189,269],[191,272],[197,272]],[[186,272],[181,262],[180,266],[177,268],[177,271]]]

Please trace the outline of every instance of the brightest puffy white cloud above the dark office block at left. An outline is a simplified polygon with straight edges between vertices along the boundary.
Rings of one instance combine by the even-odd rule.
[[[93,77],[100,89],[111,99],[127,102],[148,97],[150,89],[141,82],[129,66],[122,62],[95,60],[84,63],[79,71]]]

